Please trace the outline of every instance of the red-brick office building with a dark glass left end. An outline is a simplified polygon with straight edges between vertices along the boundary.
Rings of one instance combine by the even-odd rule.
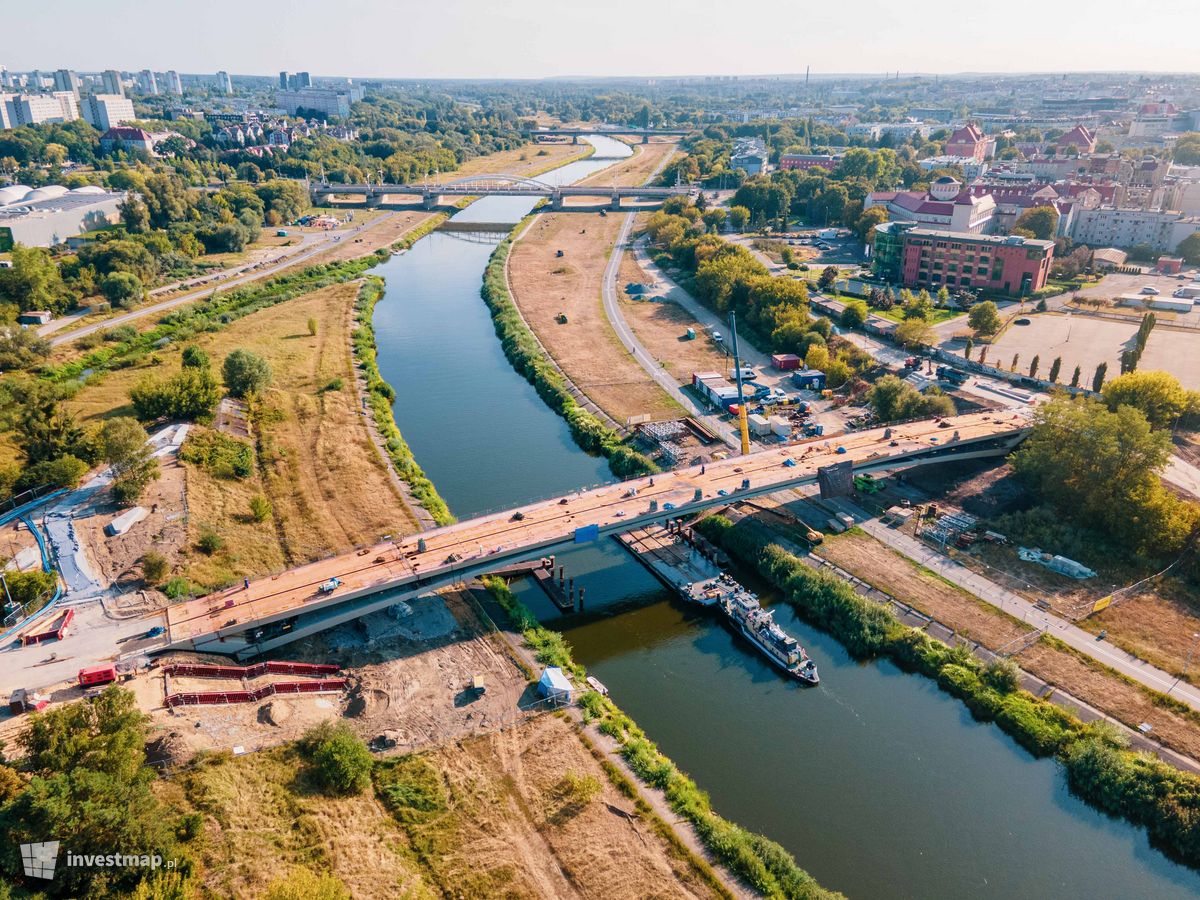
[[[875,228],[874,257],[877,275],[908,288],[1027,296],[1045,287],[1054,241],[884,222]]]

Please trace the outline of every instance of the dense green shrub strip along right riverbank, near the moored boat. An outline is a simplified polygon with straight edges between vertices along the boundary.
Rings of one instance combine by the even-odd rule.
[[[890,656],[935,678],[983,721],[995,721],[1036,756],[1055,756],[1070,788],[1111,815],[1145,826],[1174,858],[1200,868],[1200,778],[1146,754],[1133,752],[1104,722],[1076,716],[1018,688],[1015,672],[984,666],[965,648],[952,648],[902,624],[889,610],[860,598],[833,575],[815,571],[754,522],[733,526],[712,516],[701,532],[755,566],[805,618],[829,631],[859,658]]]

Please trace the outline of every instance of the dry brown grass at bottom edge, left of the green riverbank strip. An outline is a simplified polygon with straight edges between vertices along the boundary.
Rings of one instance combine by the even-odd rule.
[[[712,895],[608,782],[563,718],[540,716],[422,758],[440,773],[448,809],[408,830],[444,895]],[[576,779],[594,779],[600,792],[564,804],[564,780]]]

